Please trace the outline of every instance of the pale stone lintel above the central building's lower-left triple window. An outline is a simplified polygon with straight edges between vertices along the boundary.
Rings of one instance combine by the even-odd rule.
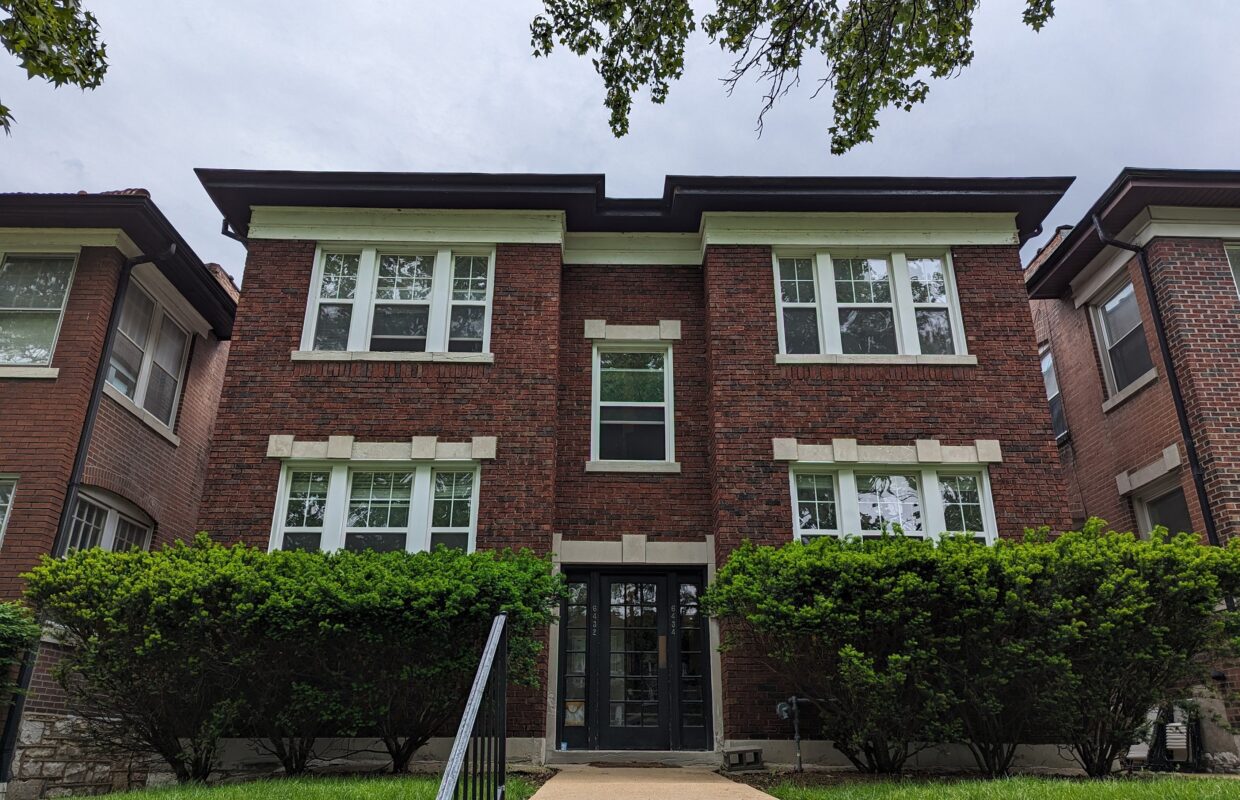
[[[272,434],[267,440],[267,458],[306,461],[481,461],[494,459],[497,448],[496,437],[472,437],[469,442],[440,442],[438,437],[357,442],[348,435],[306,440]]]

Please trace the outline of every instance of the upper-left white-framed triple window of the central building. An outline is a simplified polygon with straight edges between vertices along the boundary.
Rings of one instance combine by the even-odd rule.
[[[487,352],[494,251],[320,248],[303,350]]]

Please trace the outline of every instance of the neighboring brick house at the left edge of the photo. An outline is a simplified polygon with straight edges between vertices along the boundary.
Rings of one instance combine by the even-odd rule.
[[[236,293],[144,190],[0,195],[0,598],[47,553],[193,535]],[[19,733],[52,748],[56,651],[45,641],[21,672],[4,778]],[[108,784],[81,768],[57,778]],[[10,796],[41,791],[43,769],[19,755]]]

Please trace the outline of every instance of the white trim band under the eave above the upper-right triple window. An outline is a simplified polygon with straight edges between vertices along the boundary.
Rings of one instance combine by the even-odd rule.
[[[702,215],[702,247],[951,247],[1017,244],[1014,213],[719,212]]]

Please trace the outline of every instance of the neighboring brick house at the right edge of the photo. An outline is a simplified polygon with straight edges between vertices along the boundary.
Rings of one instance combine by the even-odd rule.
[[[1125,169],[1025,282],[1075,521],[1240,537],[1240,171]]]

